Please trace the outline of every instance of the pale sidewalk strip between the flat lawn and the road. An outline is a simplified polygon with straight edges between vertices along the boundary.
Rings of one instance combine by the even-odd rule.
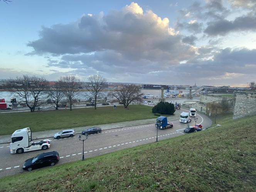
[[[180,113],[179,113],[179,111],[180,110],[176,111],[178,113],[176,113],[172,116],[167,116],[168,120],[170,120],[170,121],[178,120],[180,118],[180,113],[182,112],[182,111],[180,111]],[[75,133],[79,134],[83,130],[91,128],[91,127],[100,127],[102,130],[109,130],[109,129],[128,127],[128,126],[151,124],[151,123],[155,123],[156,119],[157,119],[157,116],[153,119],[124,121],[124,122],[118,122],[118,123],[82,126],[82,127],[75,127],[75,128],[69,128],[69,129],[74,129]],[[58,133],[62,130],[63,129],[56,129],[56,130],[46,130],[46,131],[37,131],[37,132],[33,132],[33,130],[32,130],[32,140],[39,140],[39,139],[44,139],[44,138],[53,138],[55,133]],[[12,135],[1,135],[0,136],[0,144],[10,143],[11,142],[11,136]]]

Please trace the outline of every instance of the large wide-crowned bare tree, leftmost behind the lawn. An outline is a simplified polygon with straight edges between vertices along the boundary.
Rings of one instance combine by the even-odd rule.
[[[45,103],[48,97],[46,94],[48,86],[44,77],[23,75],[23,77],[8,80],[8,84],[13,88],[12,91],[17,98],[26,103],[31,112]]]

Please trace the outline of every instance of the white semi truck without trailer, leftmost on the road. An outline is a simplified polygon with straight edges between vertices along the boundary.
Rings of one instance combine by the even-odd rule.
[[[10,143],[11,153],[24,153],[35,150],[45,150],[50,147],[49,139],[32,142],[32,132],[29,127],[16,130],[11,136]]]

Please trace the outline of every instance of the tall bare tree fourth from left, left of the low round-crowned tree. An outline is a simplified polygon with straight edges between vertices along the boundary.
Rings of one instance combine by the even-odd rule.
[[[99,74],[92,75],[88,78],[88,83],[89,85],[86,87],[86,90],[89,92],[89,94],[87,94],[86,97],[93,97],[94,109],[96,109],[96,104],[99,99],[103,99],[105,97],[102,91],[104,91],[104,89],[107,87],[106,79]]]

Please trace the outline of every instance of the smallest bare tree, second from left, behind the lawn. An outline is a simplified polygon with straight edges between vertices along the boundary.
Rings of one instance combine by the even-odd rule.
[[[53,103],[56,105],[55,109],[58,110],[59,103],[64,97],[62,84],[60,81],[56,82],[54,88],[48,91],[49,98],[52,99]]]

